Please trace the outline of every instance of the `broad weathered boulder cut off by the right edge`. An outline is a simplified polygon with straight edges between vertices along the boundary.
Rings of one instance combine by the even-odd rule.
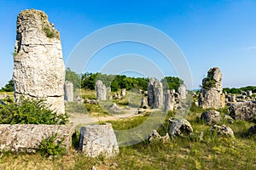
[[[250,121],[256,117],[256,101],[237,102],[230,105],[229,111],[236,120]]]

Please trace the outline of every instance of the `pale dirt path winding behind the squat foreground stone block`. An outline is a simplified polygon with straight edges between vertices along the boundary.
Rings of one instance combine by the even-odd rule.
[[[106,122],[106,121],[116,121],[123,118],[142,116],[137,114],[136,108],[131,108],[129,110],[123,110],[123,114],[113,114],[111,116],[90,116],[89,114],[81,113],[68,113],[69,121],[72,122],[76,127],[80,125],[86,125],[96,122]]]

